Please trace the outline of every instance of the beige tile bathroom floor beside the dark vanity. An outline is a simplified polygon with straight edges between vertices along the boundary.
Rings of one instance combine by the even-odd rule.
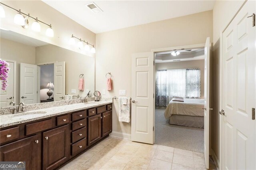
[[[61,170],[205,170],[204,154],[109,136]],[[210,169],[216,169],[210,161]]]

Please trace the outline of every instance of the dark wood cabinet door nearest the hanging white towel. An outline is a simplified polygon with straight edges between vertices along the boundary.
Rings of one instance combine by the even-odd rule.
[[[112,132],[112,111],[102,113],[102,137]]]

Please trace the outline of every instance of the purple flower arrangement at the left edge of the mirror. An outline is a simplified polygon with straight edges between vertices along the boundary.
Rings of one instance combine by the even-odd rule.
[[[9,63],[0,59],[0,80],[2,81],[2,88],[1,89],[3,91],[5,91],[6,87],[8,86],[7,79],[8,79],[9,70],[10,70]]]

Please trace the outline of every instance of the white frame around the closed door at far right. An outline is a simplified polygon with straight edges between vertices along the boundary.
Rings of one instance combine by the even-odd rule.
[[[236,16],[236,14],[240,11],[240,9],[244,6],[244,4],[246,3],[247,0],[240,0],[240,2],[238,3],[238,5],[236,6],[235,10],[232,12],[232,15],[228,18],[228,20],[225,22],[226,25],[223,26],[223,28],[221,29],[222,31],[220,32],[220,72],[219,72],[219,110],[222,110],[222,34],[224,33],[224,31],[226,30],[226,28],[229,26],[229,24],[232,22],[232,20],[234,19],[234,17]],[[218,111],[216,113],[218,113]],[[220,143],[220,148],[219,148],[219,154],[220,154],[220,158],[219,160],[214,160],[217,161],[215,162],[216,164],[218,164],[219,168],[218,169],[222,169],[222,119],[219,119],[219,143]],[[256,127],[255,127],[256,128]]]

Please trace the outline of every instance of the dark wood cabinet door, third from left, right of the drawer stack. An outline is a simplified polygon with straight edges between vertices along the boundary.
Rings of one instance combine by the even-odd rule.
[[[88,118],[88,146],[91,146],[101,138],[102,127],[101,114]]]

